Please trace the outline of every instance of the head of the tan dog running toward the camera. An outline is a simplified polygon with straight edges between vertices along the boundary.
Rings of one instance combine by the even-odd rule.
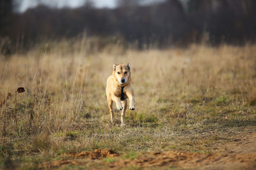
[[[130,66],[129,64],[113,64],[113,73],[121,85],[125,84],[131,75]]]

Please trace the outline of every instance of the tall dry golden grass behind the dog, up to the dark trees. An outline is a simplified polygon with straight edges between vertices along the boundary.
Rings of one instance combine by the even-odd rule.
[[[106,78],[113,63],[131,65],[135,112],[160,122],[191,103],[256,104],[255,45],[145,51],[112,46],[108,52],[89,53],[84,44],[71,48],[64,41],[54,48],[1,56],[1,135],[73,131],[90,121],[106,124]],[[15,103],[17,87],[26,92],[17,94]]]

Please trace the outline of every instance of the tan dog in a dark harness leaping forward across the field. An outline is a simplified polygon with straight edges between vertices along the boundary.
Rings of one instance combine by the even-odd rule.
[[[130,101],[129,109],[135,110],[134,91],[131,81],[129,64],[113,64],[113,73],[107,80],[106,94],[112,124],[114,115],[112,110],[113,101],[116,103],[117,110],[122,110],[121,127],[125,125],[124,117],[127,108],[127,97]]]

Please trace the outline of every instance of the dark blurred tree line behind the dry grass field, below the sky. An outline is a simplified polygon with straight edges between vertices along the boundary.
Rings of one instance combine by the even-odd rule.
[[[212,45],[255,42],[255,0],[166,0],[141,5],[143,0],[119,0],[115,9],[95,8],[86,1],[79,8],[37,6],[15,13],[19,6],[0,0],[0,46],[12,51],[33,44],[88,36],[115,36],[138,48],[154,44],[188,45],[206,37]]]

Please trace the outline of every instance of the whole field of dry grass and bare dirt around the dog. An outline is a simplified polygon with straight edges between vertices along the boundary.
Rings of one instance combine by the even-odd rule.
[[[94,48],[1,55],[0,169],[256,168],[256,45]],[[111,126],[106,79],[127,62],[136,110]]]

